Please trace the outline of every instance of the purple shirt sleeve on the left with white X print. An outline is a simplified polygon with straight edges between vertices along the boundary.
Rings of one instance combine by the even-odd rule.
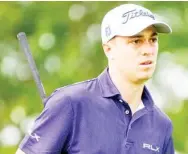
[[[48,98],[31,133],[25,136],[19,148],[26,154],[60,154],[70,145],[72,124],[70,99],[56,91]]]

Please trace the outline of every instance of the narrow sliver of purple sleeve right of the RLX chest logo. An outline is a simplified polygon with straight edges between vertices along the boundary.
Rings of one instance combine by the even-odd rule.
[[[174,154],[174,144],[173,144],[173,138],[172,138],[172,124],[167,129],[166,132],[166,138],[165,138],[165,144],[164,144],[164,152],[163,154]]]

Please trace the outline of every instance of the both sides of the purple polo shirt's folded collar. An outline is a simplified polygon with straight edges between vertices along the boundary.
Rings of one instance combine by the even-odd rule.
[[[121,95],[110,78],[108,67],[98,76],[98,81],[103,97],[108,98]],[[144,86],[142,101],[147,109],[150,110],[153,107],[154,102],[146,86]]]

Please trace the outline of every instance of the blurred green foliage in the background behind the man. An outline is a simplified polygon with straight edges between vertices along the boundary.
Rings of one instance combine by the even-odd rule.
[[[105,68],[107,60],[97,27],[108,10],[123,3],[127,2],[0,2],[0,131],[8,124],[20,129],[10,116],[16,106],[24,108],[26,117],[39,114],[43,108],[16,35],[21,31],[27,34],[41,80],[50,95],[58,87],[93,78]],[[168,19],[173,33],[160,35],[159,52],[172,53],[176,63],[187,68],[188,2],[130,3],[141,4]],[[188,100],[181,103],[178,112],[165,112],[174,125],[175,148],[183,154],[188,153]],[[10,138],[14,136],[10,134]],[[4,145],[1,139],[0,154],[14,153],[17,146],[18,143]]]

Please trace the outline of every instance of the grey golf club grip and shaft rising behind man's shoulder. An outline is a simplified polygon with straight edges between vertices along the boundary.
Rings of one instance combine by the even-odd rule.
[[[20,32],[20,33],[18,33],[17,38],[18,38],[20,46],[21,46],[22,50],[24,51],[24,54],[27,58],[27,61],[29,63],[29,67],[31,69],[33,78],[35,80],[35,83],[37,85],[37,88],[38,88],[38,91],[39,91],[39,94],[40,94],[40,97],[41,97],[41,99],[44,103],[45,99],[46,99],[45,90],[44,90],[43,84],[41,82],[39,73],[37,71],[35,61],[33,60],[31,50],[30,50],[29,44],[27,42],[26,34],[24,32]]]

